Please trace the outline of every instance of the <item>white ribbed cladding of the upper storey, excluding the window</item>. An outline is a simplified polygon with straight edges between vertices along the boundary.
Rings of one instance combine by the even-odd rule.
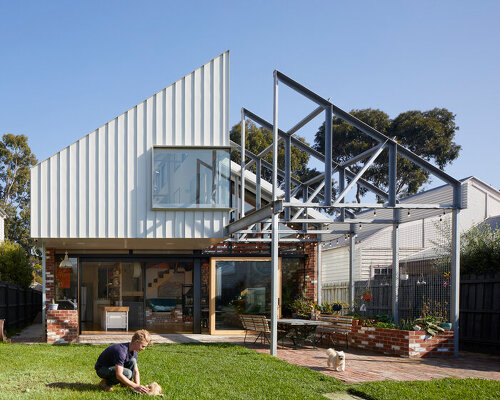
[[[153,146],[229,145],[229,52],[31,169],[34,238],[222,237],[227,211],[153,211]]]

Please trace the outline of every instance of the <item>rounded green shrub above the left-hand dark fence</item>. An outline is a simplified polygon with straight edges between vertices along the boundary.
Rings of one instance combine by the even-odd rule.
[[[25,288],[32,282],[33,267],[21,245],[9,240],[0,243],[0,278]]]

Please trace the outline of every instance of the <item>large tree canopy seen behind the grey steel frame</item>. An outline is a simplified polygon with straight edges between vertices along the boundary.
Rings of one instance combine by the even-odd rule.
[[[407,111],[391,119],[381,110],[352,110],[351,115],[372,126],[384,135],[394,138],[427,161],[437,164],[441,169],[458,157],[460,146],[453,139],[459,129],[455,124],[455,115],[445,108],[434,108],[429,111]],[[333,118],[333,160],[341,163],[353,156],[375,146],[377,143],[360,132],[357,128]],[[325,151],[325,127],[316,133],[314,146],[316,150]],[[362,168],[361,163],[351,167],[353,171]],[[429,173],[398,156],[396,192],[408,196],[415,194],[429,181]],[[388,152],[384,151],[375,160],[363,177],[381,188],[388,188],[389,175]],[[361,189],[358,186],[357,200],[360,201]]]

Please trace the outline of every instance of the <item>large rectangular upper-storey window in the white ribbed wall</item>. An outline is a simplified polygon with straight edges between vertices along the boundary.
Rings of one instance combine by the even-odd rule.
[[[153,208],[230,208],[229,148],[153,148]]]

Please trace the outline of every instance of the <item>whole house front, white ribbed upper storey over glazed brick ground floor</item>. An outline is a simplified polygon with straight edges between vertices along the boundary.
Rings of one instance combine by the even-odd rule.
[[[268,313],[269,246],[223,243],[235,179],[229,52],[34,166],[47,341],[234,333],[242,308]],[[282,308],[299,290],[315,296],[316,253],[283,247]]]

